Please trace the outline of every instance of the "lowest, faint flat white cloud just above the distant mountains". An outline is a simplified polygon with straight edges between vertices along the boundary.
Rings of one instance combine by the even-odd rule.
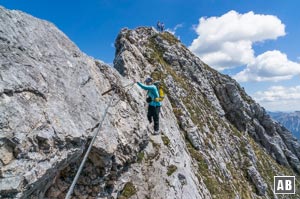
[[[300,110],[300,85],[273,86],[267,91],[256,92],[254,99],[269,111]]]

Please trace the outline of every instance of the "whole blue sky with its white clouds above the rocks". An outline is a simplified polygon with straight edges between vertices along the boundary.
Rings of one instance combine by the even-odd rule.
[[[266,109],[300,110],[300,1],[0,0],[0,5],[51,21],[83,52],[106,63],[113,62],[120,29],[163,21]]]

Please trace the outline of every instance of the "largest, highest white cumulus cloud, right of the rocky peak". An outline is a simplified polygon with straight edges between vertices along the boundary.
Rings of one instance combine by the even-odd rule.
[[[272,15],[229,11],[220,17],[200,18],[198,37],[189,49],[218,70],[255,61],[253,43],[284,36],[285,25]]]

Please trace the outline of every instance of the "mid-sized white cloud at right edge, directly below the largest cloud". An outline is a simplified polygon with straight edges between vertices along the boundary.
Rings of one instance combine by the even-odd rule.
[[[239,82],[280,81],[295,75],[300,75],[300,63],[289,61],[286,54],[274,50],[257,56],[234,78]]]

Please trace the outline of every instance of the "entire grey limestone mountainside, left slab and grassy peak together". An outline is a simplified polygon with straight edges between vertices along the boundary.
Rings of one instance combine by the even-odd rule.
[[[73,198],[274,198],[274,175],[298,177],[299,141],[172,34],[123,29],[115,46],[112,68],[0,7],[0,198],[64,198],[111,99]],[[160,135],[132,84],[146,76],[167,94]]]

